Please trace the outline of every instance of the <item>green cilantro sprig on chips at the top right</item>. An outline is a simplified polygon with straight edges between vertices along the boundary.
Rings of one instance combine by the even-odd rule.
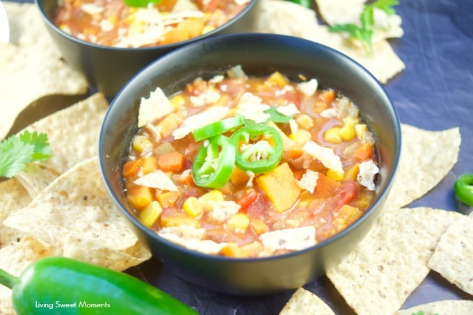
[[[346,32],[351,39],[360,40],[364,51],[371,54],[373,50],[373,43],[371,36],[373,35],[374,26],[374,9],[383,10],[387,16],[394,15],[396,10],[393,6],[399,5],[397,0],[376,0],[373,3],[365,4],[360,14],[360,25],[353,23],[335,24],[328,28],[331,32]]]

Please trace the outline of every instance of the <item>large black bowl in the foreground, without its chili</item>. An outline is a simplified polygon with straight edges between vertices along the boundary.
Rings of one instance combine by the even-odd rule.
[[[204,255],[170,243],[136,218],[124,193],[122,165],[137,131],[141,97],[161,87],[166,95],[182,90],[195,77],[209,79],[241,65],[247,74],[278,70],[298,81],[298,74],[316,78],[350,98],[360,108],[377,142],[380,176],[372,206],[343,232],[311,248],[287,255],[234,259]],[[270,34],[235,34],[202,40],[159,58],[138,73],[113,99],[99,137],[99,164],[114,202],[139,238],[177,275],[216,291],[266,294],[294,289],[315,280],[337,264],[367,234],[385,202],[399,161],[399,119],[383,86],[358,63],[339,52],[299,38]]]

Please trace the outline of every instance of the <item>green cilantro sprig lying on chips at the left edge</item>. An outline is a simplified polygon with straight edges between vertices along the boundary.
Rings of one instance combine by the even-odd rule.
[[[0,177],[15,177],[26,163],[45,161],[51,156],[47,134],[25,130],[0,142]]]

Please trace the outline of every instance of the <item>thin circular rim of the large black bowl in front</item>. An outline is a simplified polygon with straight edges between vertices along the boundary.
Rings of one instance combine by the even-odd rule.
[[[105,134],[104,133],[104,127],[107,122],[107,118],[109,118],[110,113],[113,111],[113,107],[115,102],[118,102],[118,99],[120,99],[120,95],[125,94],[127,90],[132,86],[133,82],[136,81],[139,77],[145,76],[147,72],[152,72],[152,69],[155,67],[155,64],[159,63],[164,63],[166,62],[166,58],[170,58],[169,56],[172,56],[173,54],[179,54],[182,52],[185,52],[188,49],[192,49],[193,47],[197,45],[206,45],[207,42],[213,42],[213,41],[218,41],[218,40],[241,40],[242,38],[260,38],[260,37],[268,37],[268,38],[273,38],[273,40],[294,40],[298,42],[306,42],[307,44],[314,45],[314,47],[318,47],[318,49],[326,50],[328,54],[334,54],[337,56],[337,58],[346,58],[349,63],[353,63],[355,67],[358,67],[358,70],[363,72],[367,78],[372,81],[374,84],[374,87],[378,88],[381,92],[381,95],[386,99],[388,106],[388,109],[390,110],[390,114],[392,115],[392,118],[394,120],[394,127],[395,129],[392,131],[392,137],[394,139],[399,139],[396,147],[395,147],[395,154],[393,156],[393,163],[392,163],[392,172],[390,176],[386,179],[386,186],[383,191],[380,192],[380,194],[377,196],[376,200],[369,206],[366,212],[362,214],[358,220],[356,220],[354,223],[346,227],[346,229],[343,229],[341,232],[338,232],[334,236],[330,236],[330,238],[321,241],[320,243],[316,243],[315,245],[312,245],[308,248],[304,248],[302,250],[295,250],[294,252],[287,252],[281,255],[272,255],[268,257],[252,257],[252,258],[236,258],[236,257],[225,257],[222,255],[210,255],[210,254],[205,254],[203,252],[198,252],[197,250],[191,250],[189,248],[186,248],[183,245],[179,245],[177,243],[173,243],[171,241],[168,241],[168,239],[164,239],[163,237],[159,236],[156,232],[153,232],[150,228],[146,227],[141,223],[141,221],[134,216],[130,211],[128,211],[124,205],[120,202],[118,199],[117,195],[111,189],[111,186],[109,182],[106,179],[106,173],[104,170],[104,163],[106,160],[106,154],[104,154],[102,150],[102,136]],[[298,255],[304,255],[307,252],[311,252],[312,250],[316,250],[318,248],[323,248],[329,245],[330,243],[335,243],[335,241],[344,238],[347,234],[350,234],[354,229],[357,229],[358,226],[362,225],[365,220],[368,220],[368,218],[371,217],[371,215],[376,211],[378,207],[383,206],[383,203],[385,202],[385,199],[387,197],[387,194],[390,192],[390,188],[392,187],[392,183],[394,181],[394,177],[396,175],[397,170],[399,169],[399,160],[401,156],[401,143],[402,143],[402,138],[401,138],[401,123],[399,120],[399,113],[396,110],[396,107],[394,106],[394,103],[392,102],[392,99],[390,98],[390,95],[388,95],[386,89],[384,88],[383,84],[376,79],[376,77],[369,72],[369,70],[366,69],[363,65],[358,63],[358,61],[354,60],[350,56],[347,56],[346,54],[343,54],[341,51],[337,51],[336,49],[333,49],[332,47],[328,47],[326,45],[323,45],[319,42],[313,42],[311,40],[305,40],[303,38],[297,38],[294,36],[290,35],[280,35],[280,34],[271,34],[271,33],[234,33],[234,34],[227,34],[227,35],[217,35],[212,38],[206,38],[204,40],[200,40],[198,42],[194,42],[190,45],[185,45],[184,47],[179,47],[178,49],[175,49],[174,51],[170,51],[167,54],[164,54],[157,60],[154,60],[152,63],[141,69],[139,72],[137,72],[126,84],[123,86],[115,95],[113,98],[108,110],[106,111],[106,114],[104,116],[103,124],[100,130],[99,134],[99,148],[98,148],[98,157],[99,157],[99,169],[100,169],[100,174],[102,175],[102,180],[104,181],[104,185],[106,186],[106,190],[109,192],[109,195],[111,196],[113,202],[115,205],[120,209],[120,211],[127,217],[127,219],[134,225],[134,227],[138,228],[141,230],[141,232],[147,234],[147,236],[150,239],[154,239],[158,241],[159,243],[165,243],[167,246],[174,248],[175,250],[178,250],[179,252],[185,252],[187,255],[191,255],[193,257],[199,257],[202,259],[213,259],[216,261],[227,261],[227,262],[235,262],[235,261],[241,261],[241,262],[260,262],[260,261],[271,261],[271,260],[278,260],[278,259],[287,259],[288,257],[294,257]],[[372,225],[369,227],[369,229],[372,228]],[[346,253],[348,255],[348,252]]]

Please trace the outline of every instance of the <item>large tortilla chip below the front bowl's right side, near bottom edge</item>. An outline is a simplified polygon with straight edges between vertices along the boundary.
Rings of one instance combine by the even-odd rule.
[[[431,208],[384,212],[327,276],[357,314],[393,314],[424,280],[440,236],[460,216]]]

